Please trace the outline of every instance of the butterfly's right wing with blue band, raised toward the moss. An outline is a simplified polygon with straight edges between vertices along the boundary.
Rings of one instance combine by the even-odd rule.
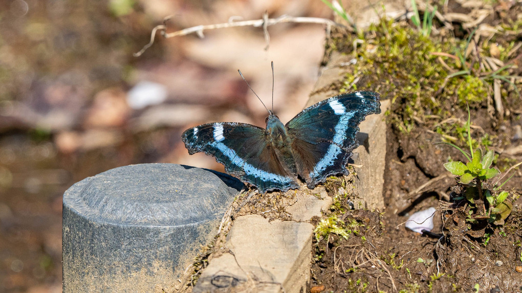
[[[372,113],[381,113],[376,92],[359,91],[330,97],[290,120],[292,153],[299,176],[309,188],[334,174],[346,174],[346,163],[359,142],[359,124]]]

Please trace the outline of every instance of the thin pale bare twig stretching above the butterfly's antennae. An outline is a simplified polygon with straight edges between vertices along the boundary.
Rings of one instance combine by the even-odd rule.
[[[182,35],[187,35],[187,34],[192,34],[192,33],[196,33],[199,36],[199,38],[203,38],[204,37],[203,31],[205,31],[205,30],[215,30],[215,29],[233,28],[233,27],[248,27],[248,26],[252,26],[252,27],[255,27],[255,28],[259,28],[259,27],[263,28],[263,33],[265,35],[265,40],[267,42],[267,47],[265,48],[265,50],[266,50],[268,48],[268,42],[270,40],[267,28],[269,26],[273,26],[273,25],[276,25],[278,23],[284,23],[284,22],[317,23],[317,24],[321,24],[321,25],[326,25],[327,32],[330,31],[332,26],[342,27],[342,28],[347,28],[348,29],[348,27],[343,26],[340,23],[337,23],[335,21],[332,21],[332,20],[329,20],[329,19],[326,19],[326,18],[292,17],[292,16],[288,16],[288,15],[282,15],[282,16],[280,16],[278,18],[268,18],[268,14],[266,14],[266,13],[263,14],[263,19],[234,21],[233,18],[230,18],[229,22],[226,22],[226,23],[217,23],[215,25],[206,25],[206,26],[203,26],[203,25],[195,26],[195,27],[186,28],[186,29],[175,31],[175,32],[171,32],[171,33],[167,33],[166,32],[167,31],[167,26],[160,25],[160,26],[157,26],[157,27],[152,29],[152,33],[150,35],[150,42],[147,45],[145,45],[139,52],[134,53],[133,55],[135,57],[138,57],[141,54],[143,54],[154,43],[154,38],[155,38],[156,32],[158,30],[161,30],[161,35],[163,35],[167,39],[168,38],[173,38],[174,36],[182,36]]]

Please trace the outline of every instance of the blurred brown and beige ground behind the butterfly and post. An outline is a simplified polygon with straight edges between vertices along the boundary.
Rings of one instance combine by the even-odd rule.
[[[62,195],[105,170],[168,162],[223,170],[189,156],[181,133],[213,121],[286,123],[304,107],[323,58],[325,28],[280,24],[149,42],[230,17],[325,17],[319,0],[0,1],[0,292],[62,290]]]

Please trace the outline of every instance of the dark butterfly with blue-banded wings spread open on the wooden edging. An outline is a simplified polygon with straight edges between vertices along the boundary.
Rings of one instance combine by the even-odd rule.
[[[379,100],[371,91],[340,94],[307,107],[286,125],[268,110],[266,128],[209,123],[187,129],[182,140],[189,154],[215,157],[227,173],[259,192],[299,188],[298,177],[313,189],[330,175],[348,173],[359,124],[381,113]]]

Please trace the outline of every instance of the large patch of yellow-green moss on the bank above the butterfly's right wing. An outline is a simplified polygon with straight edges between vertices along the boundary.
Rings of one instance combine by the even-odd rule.
[[[339,91],[378,91],[383,99],[392,101],[387,122],[400,131],[410,132],[419,121],[424,128],[435,129],[440,121],[458,113],[455,108],[464,112],[466,105],[482,107],[492,94],[493,72],[462,57],[469,46],[467,40],[430,38],[405,22],[382,20],[357,35],[333,38],[332,43],[331,48],[355,61],[338,85]],[[500,58],[513,48],[511,43],[498,46]],[[489,48],[482,47],[480,52],[489,55]],[[456,75],[459,70],[467,71]],[[495,72],[506,74],[506,70]],[[443,130],[438,129],[446,134]]]

